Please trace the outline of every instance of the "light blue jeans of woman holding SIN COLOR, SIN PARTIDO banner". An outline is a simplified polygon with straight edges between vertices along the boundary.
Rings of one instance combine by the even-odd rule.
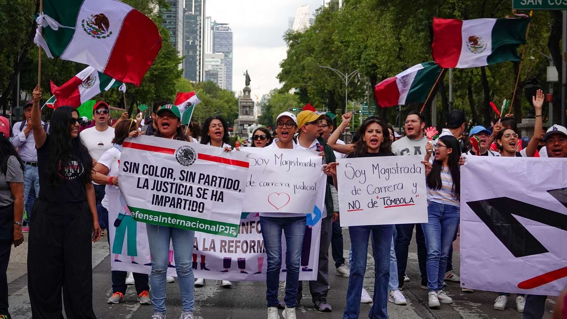
[[[175,270],[181,290],[183,311],[193,311],[195,277],[192,267],[195,232],[180,228],[146,224],[147,241],[151,255],[151,302],[154,312],[166,313],[167,262],[170,254],[170,240],[174,245]]]

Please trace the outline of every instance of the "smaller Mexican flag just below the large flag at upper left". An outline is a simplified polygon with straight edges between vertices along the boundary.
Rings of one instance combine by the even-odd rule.
[[[53,81],[51,82],[51,93],[56,99],[53,108],[65,105],[79,107],[97,94],[113,87],[120,87],[122,92],[126,91],[124,83],[98,72],[92,66],[88,66],[62,86],[58,87]]]

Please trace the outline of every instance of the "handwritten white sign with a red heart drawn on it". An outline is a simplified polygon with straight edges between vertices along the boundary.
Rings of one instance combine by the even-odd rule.
[[[250,153],[244,212],[312,213],[321,184],[321,157],[298,149],[241,148]]]

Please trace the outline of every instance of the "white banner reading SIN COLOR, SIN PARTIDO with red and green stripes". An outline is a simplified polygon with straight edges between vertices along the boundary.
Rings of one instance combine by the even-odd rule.
[[[236,237],[247,171],[243,152],[139,136],[122,144],[119,184],[136,221]]]

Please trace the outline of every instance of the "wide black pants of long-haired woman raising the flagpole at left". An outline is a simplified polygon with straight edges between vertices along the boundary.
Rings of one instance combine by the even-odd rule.
[[[96,319],[92,310],[92,217],[87,202],[33,205],[28,291],[33,319]]]

